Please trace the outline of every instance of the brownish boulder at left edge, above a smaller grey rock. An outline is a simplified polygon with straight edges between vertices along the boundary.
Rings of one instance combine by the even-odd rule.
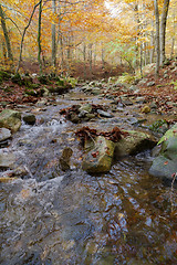
[[[15,132],[21,126],[21,114],[17,110],[4,109],[0,113],[0,128],[4,127]]]

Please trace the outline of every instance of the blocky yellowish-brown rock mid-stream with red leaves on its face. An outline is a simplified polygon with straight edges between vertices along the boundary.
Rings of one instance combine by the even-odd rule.
[[[95,139],[94,148],[84,157],[82,168],[88,173],[107,172],[111,169],[115,144],[103,136]]]

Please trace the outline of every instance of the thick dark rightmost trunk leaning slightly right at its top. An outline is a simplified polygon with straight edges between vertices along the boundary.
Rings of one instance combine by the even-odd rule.
[[[169,0],[164,0],[162,21],[160,21],[160,64],[165,61],[165,38]]]

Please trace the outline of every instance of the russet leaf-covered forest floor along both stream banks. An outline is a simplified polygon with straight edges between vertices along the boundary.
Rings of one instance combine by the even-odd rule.
[[[37,73],[38,66],[30,64],[24,65],[24,72],[29,70],[29,72]],[[164,114],[168,112],[171,113],[174,106],[177,104],[177,62],[169,61],[168,65],[165,65],[159,71],[159,76],[155,77],[154,71],[150,71],[145,77],[143,84],[139,82],[136,86],[139,88],[138,96],[145,96],[148,102],[153,100],[158,105],[158,110]],[[110,76],[118,76],[126,72],[126,68],[123,66],[117,66],[115,68],[111,68],[106,65],[105,68],[102,65],[97,65],[93,72],[94,75],[88,74],[87,68],[87,78],[88,80],[108,80]],[[73,72],[73,77],[80,77],[81,80],[84,78],[84,68],[83,65],[80,65],[75,72]],[[148,86],[149,82],[154,82],[154,85]],[[142,84],[142,85],[140,85]],[[40,85],[42,88],[44,85]],[[49,85],[45,85],[48,88]],[[108,84],[107,84],[108,86]],[[39,97],[37,96],[27,96],[25,95],[25,86],[18,85],[12,83],[11,80],[3,81],[0,85],[0,109],[10,107],[15,107],[17,104],[24,104],[28,105],[29,103],[37,103]],[[108,92],[110,93],[110,92]],[[174,115],[176,115],[176,106],[174,108]]]

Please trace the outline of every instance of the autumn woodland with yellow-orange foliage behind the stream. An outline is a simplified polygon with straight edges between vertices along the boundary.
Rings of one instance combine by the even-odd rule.
[[[177,55],[176,13],[176,0],[1,1],[0,66],[94,78],[156,62],[158,74]]]

